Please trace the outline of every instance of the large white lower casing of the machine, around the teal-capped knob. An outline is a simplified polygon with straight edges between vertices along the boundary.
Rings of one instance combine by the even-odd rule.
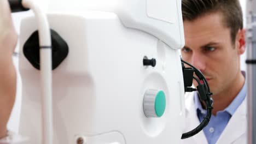
[[[78,137],[88,144],[180,142],[185,111],[178,50],[149,33],[125,27],[114,13],[48,14],[48,19],[69,46],[67,58],[53,70],[55,144],[76,143]],[[36,29],[33,17],[22,21],[21,51]],[[170,32],[172,37],[182,37],[174,32]],[[143,66],[145,56],[156,59],[154,68]],[[40,144],[39,70],[22,52],[19,65],[23,90],[20,134],[29,137],[26,143]],[[144,115],[147,89],[165,92],[166,110],[160,118]]]

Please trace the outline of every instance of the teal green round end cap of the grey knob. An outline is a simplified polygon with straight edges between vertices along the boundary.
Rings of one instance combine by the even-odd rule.
[[[165,93],[163,91],[159,91],[155,97],[156,116],[161,117],[162,115],[164,115],[165,107],[166,107]]]

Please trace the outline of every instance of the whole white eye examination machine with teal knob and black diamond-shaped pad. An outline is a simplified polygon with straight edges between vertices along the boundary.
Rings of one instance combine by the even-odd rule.
[[[92,9],[89,0],[72,3],[79,8],[50,2],[49,45],[42,44],[36,16],[21,22],[19,133],[25,143],[180,143],[181,0],[119,0]],[[41,52],[49,49],[51,57]],[[42,74],[43,57],[51,58],[49,75]]]

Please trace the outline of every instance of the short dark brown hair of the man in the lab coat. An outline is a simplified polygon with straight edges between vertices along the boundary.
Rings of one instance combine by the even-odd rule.
[[[197,17],[217,12],[223,14],[223,24],[230,28],[234,43],[237,31],[243,28],[242,9],[238,0],[182,0],[183,21],[193,21]]]

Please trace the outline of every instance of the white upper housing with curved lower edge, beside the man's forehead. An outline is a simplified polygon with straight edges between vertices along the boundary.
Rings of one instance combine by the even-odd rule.
[[[172,49],[184,46],[181,0],[122,0],[114,12],[126,27],[150,33]]]

